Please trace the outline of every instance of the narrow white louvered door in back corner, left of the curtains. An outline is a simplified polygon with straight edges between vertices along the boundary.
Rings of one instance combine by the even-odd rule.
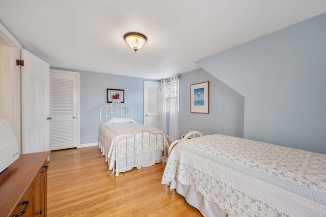
[[[159,82],[144,81],[144,125],[159,129]]]

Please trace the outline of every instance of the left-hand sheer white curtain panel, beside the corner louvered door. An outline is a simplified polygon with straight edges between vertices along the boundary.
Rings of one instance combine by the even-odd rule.
[[[158,97],[159,129],[167,134],[167,80],[161,80]]]

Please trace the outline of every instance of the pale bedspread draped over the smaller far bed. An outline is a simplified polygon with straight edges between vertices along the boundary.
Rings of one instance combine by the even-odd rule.
[[[114,123],[111,125],[105,125],[100,127],[99,134],[99,147],[101,148],[102,153],[105,155],[105,160],[108,162],[109,169],[112,170],[115,166],[116,160],[116,148],[115,142],[122,136],[130,135],[134,131],[145,128],[144,125],[140,123]],[[146,127],[153,132],[161,132],[160,130],[153,127]],[[156,144],[156,138],[158,140]],[[130,139],[121,140],[119,142],[119,160],[125,159],[126,157],[133,157],[135,152],[136,154],[143,153],[143,143],[144,143],[144,152],[150,152],[158,150],[163,150],[163,139],[166,140],[166,148],[168,147],[168,142],[166,137],[162,138],[162,136],[144,133],[144,137],[141,133],[137,134],[136,137],[132,137]],[[150,145],[151,144],[151,147]],[[156,146],[157,145],[157,146]]]

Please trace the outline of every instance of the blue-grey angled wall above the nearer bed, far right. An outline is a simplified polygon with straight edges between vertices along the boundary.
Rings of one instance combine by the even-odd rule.
[[[326,14],[197,64],[244,96],[244,138],[326,153]]]

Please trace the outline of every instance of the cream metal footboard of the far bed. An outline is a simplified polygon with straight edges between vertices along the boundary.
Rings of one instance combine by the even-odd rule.
[[[160,139],[161,138],[161,139]],[[123,141],[123,144],[126,144],[125,148],[125,156],[126,156],[126,167],[119,168],[119,144]],[[139,142],[141,141],[141,144]],[[153,144],[154,143],[154,144]],[[134,164],[128,165],[127,159],[130,156],[130,146],[128,149],[128,144],[133,144],[131,147],[131,152],[134,152]],[[151,131],[148,128],[139,129],[133,132],[131,135],[121,136],[115,142],[115,171],[116,176],[119,176],[119,172],[124,171],[126,168],[137,167],[140,165],[144,165],[151,162],[156,162],[162,160],[163,163],[166,162],[166,153],[168,149],[167,139],[164,133],[159,131]],[[162,149],[163,154],[159,154],[160,149]],[[121,150],[120,150],[121,151]],[[153,156],[153,152],[155,152],[155,156]],[[149,160],[145,158],[145,155],[149,154]],[[141,162],[138,162],[139,156],[142,156]],[[112,174],[113,174],[112,173]]]

